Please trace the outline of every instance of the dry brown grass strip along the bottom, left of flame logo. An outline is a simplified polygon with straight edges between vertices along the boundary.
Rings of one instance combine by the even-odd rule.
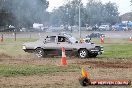
[[[78,83],[79,73],[77,72],[60,72],[49,73],[44,75],[0,77],[0,85],[35,85],[35,84],[71,84]]]

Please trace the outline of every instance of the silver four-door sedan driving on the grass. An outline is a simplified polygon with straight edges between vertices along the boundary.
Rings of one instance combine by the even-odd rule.
[[[96,57],[103,52],[102,46],[94,43],[79,43],[76,38],[67,33],[47,36],[36,42],[24,43],[22,49],[25,52],[35,53],[37,57],[45,57],[47,55],[60,55],[62,47],[65,48],[66,55],[74,53],[80,58]]]

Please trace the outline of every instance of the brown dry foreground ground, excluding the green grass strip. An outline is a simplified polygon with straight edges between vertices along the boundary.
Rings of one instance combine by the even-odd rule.
[[[111,65],[116,65],[118,62],[121,62],[127,65],[127,62],[131,63],[132,60],[130,59],[77,59],[77,58],[67,58],[68,64],[72,64],[77,66],[77,70],[75,67],[68,67],[67,66],[62,68],[70,69],[69,71],[62,71],[62,69],[58,69],[58,72],[55,72],[55,69],[58,68],[58,64],[60,63],[60,58],[45,58],[45,59],[26,59],[26,58],[15,58],[15,59],[3,59],[0,64],[4,64],[10,66],[14,66],[13,68],[28,68],[29,66],[33,66],[33,68],[39,68],[42,66],[43,68],[52,68],[47,70],[48,73],[41,73],[41,74],[32,74],[32,75],[17,75],[17,76],[9,76],[3,77],[0,76],[0,86],[4,88],[82,88],[79,84],[78,78],[81,76],[81,67],[84,67],[90,74],[89,77],[91,79],[130,79],[132,80],[132,68],[114,68],[114,67],[102,67],[101,65],[98,66],[99,62],[103,62],[104,66],[107,65],[107,62],[111,62]],[[84,63],[85,62],[85,63]],[[91,63],[92,62],[92,63]],[[105,64],[106,62],[106,64]],[[114,64],[115,63],[115,64]],[[47,65],[48,67],[43,67]],[[119,64],[118,64],[119,65]],[[122,65],[122,64],[120,64]],[[7,68],[5,68],[6,70]],[[30,70],[30,69],[28,69]],[[65,69],[66,70],[66,69]],[[53,71],[53,72],[52,72]],[[56,69],[57,71],[57,69]],[[15,72],[15,71],[14,71]],[[19,72],[19,70],[18,70]],[[20,73],[19,73],[20,74]],[[89,88],[131,88],[132,86],[89,86]]]

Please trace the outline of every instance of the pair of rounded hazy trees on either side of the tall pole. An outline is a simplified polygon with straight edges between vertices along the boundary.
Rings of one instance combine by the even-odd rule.
[[[79,6],[81,9],[81,26],[102,23],[115,24],[120,21],[118,6],[115,3],[103,4],[99,0],[89,0],[86,6],[79,0],[69,1],[67,4],[54,9],[51,13],[52,25],[78,25]]]

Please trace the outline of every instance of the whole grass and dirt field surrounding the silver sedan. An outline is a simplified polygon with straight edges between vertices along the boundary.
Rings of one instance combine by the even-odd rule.
[[[36,40],[32,38],[19,38],[16,41],[5,39],[3,43],[0,43],[0,88],[82,88],[78,82],[81,67],[89,69],[91,78],[104,76],[104,78],[132,80],[131,66],[105,69],[98,66],[100,61],[108,59],[110,62],[111,58],[113,62],[110,63],[115,64],[115,67],[118,65],[123,67],[124,64],[131,65],[128,62],[132,62],[132,41],[128,39],[105,38],[105,44],[100,44],[99,39],[92,39],[92,42],[104,47],[104,53],[96,59],[68,58],[67,66],[59,65],[58,58],[38,59],[34,58],[33,54],[22,50],[24,42]],[[29,59],[30,57],[33,59]],[[96,64],[93,62],[84,64],[87,61],[96,60]],[[78,64],[82,61],[84,61],[83,64]],[[121,64],[117,64],[116,61]],[[109,65],[108,62],[104,63]],[[88,86],[88,88],[132,88],[132,86]]]

